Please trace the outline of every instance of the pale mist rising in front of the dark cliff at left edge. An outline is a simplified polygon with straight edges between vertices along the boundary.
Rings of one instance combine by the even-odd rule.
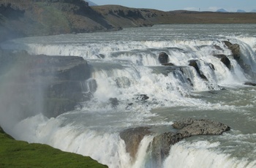
[[[45,85],[26,52],[1,50],[0,62],[0,125],[11,134],[16,123],[43,111]]]

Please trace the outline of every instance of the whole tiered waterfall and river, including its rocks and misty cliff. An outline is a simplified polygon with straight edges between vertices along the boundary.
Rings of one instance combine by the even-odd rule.
[[[234,26],[1,43],[0,125],[113,168],[256,167],[255,27]]]

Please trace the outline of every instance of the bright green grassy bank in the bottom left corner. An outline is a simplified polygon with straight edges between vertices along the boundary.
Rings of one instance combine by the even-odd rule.
[[[107,167],[90,157],[17,141],[0,127],[0,167]]]

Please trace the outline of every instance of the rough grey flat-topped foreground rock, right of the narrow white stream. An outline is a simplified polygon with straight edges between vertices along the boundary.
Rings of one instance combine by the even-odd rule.
[[[222,134],[224,131],[230,130],[230,127],[223,123],[205,119],[195,120],[192,118],[174,122],[173,128],[179,129],[178,132],[159,134],[154,137],[151,143],[151,160],[154,167],[161,167],[162,161],[169,154],[170,146],[186,137],[203,134]]]

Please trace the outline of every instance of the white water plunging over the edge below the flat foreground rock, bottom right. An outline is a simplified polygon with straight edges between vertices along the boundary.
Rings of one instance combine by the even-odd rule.
[[[170,155],[164,167],[255,167],[256,161],[246,161],[230,157],[215,150],[219,142],[178,142],[170,148]]]

